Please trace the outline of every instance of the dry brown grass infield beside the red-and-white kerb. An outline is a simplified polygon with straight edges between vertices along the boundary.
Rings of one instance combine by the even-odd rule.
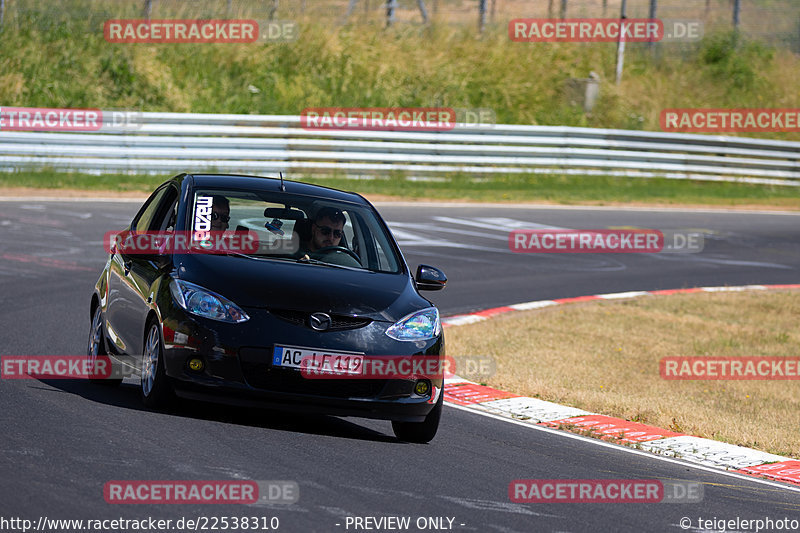
[[[511,313],[450,328],[449,355],[489,354],[488,385],[800,457],[800,382],[672,381],[666,356],[800,355],[800,291],[697,293]]]

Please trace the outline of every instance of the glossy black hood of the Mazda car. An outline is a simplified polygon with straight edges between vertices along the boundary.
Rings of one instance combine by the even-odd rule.
[[[395,322],[431,306],[406,274],[221,255],[176,258],[180,279],[244,308],[294,309]]]

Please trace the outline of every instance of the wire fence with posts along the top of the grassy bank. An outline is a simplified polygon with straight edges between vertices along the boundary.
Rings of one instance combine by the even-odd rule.
[[[628,18],[695,19],[800,53],[797,0],[625,0]],[[0,25],[64,19],[233,18],[322,25],[472,25],[504,31],[514,18],[616,18],[623,0],[0,0]]]

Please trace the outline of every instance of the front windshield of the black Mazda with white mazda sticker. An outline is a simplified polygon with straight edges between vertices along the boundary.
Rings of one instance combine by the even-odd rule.
[[[368,207],[284,192],[197,188],[190,206],[192,239],[257,243],[256,259],[296,261],[375,272],[400,272],[388,230]],[[236,250],[236,246],[231,246]]]

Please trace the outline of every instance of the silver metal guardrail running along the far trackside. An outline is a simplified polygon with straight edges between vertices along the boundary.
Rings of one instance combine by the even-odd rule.
[[[450,131],[304,129],[300,116],[142,113],[120,133],[0,132],[0,169],[321,172],[410,177],[462,172],[667,177],[800,186],[800,143],[561,126]]]

